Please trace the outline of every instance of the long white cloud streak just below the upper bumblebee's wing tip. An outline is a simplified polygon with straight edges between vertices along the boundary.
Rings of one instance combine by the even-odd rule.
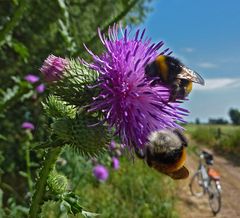
[[[240,78],[214,78],[205,79],[205,86],[194,85],[193,90],[209,91],[236,87],[240,87]]]

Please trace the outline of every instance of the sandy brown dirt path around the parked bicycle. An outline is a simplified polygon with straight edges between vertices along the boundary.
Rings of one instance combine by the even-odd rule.
[[[222,209],[217,218],[240,218],[240,166],[234,166],[225,158],[214,152],[214,168],[221,174]],[[191,195],[189,182],[197,169],[198,159],[189,155],[186,165],[190,168],[190,178],[180,181],[178,188],[178,211],[180,218],[214,217],[211,213],[207,195],[196,198]]]

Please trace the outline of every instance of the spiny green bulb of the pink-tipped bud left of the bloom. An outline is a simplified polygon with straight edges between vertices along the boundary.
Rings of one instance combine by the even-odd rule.
[[[70,105],[83,107],[89,105],[98,89],[91,89],[98,78],[98,73],[90,70],[79,60],[69,60],[63,76],[50,87],[52,93]]]

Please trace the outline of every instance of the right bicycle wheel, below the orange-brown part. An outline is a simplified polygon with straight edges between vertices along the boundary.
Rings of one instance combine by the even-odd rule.
[[[216,215],[221,209],[221,193],[217,188],[216,181],[214,180],[210,180],[209,183],[208,199],[212,212]]]

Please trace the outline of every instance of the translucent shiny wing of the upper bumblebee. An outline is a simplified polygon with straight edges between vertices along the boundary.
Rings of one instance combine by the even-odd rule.
[[[204,79],[195,71],[182,66],[182,71],[177,75],[178,79],[187,79],[201,85],[205,85]]]

